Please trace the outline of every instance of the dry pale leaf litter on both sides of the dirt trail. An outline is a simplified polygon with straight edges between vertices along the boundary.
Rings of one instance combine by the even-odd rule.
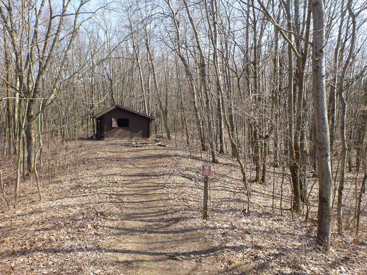
[[[117,234],[113,225],[119,221],[119,204],[128,203],[121,201],[116,190],[124,193],[124,183],[130,178],[116,169],[118,158],[104,157],[111,144],[70,143],[69,152],[63,155],[66,165],[60,166],[56,180],[48,182],[44,172],[41,202],[34,199],[34,180],[21,183],[21,204],[15,210],[2,208],[1,274],[116,274],[120,270],[119,253],[108,247]],[[134,150],[139,149],[123,148],[121,152],[128,154],[129,162],[134,163]],[[77,163],[75,152],[79,156]],[[268,187],[252,184],[251,215],[245,216],[241,210],[246,208],[247,197],[239,168],[234,160],[219,157],[210,180],[209,219],[203,220],[200,168],[206,161],[200,153],[175,147],[173,143],[170,148],[154,152],[166,164],[160,165],[155,182],[167,198],[174,199],[169,207],[180,219],[179,226],[195,227],[211,245],[210,253],[187,255],[202,268],[207,267],[209,259],[208,263],[217,264],[223,274],[367,273],[366,211],[361,214],[362,228],[357,237],[352,230],[344,235],[335,234],[333,219],[331,250],[320,252],[316,249],[313,220],[304,222],[302,216],[292,220],[290,184],[286,181],[283,208],[288,210],[283,209],[283,216],[280,215],[281,170],[276,169],[275,179],[268,171]],[[7,163],[1,162],[3,175],[12,173]],[[55,166],[55,159],[51,163]],[[11,181],[11,176],[4,180],[8,198],[12,194]],[[310,217],[314,218],[316,199],[314,188],[310,197],[313,202]]]

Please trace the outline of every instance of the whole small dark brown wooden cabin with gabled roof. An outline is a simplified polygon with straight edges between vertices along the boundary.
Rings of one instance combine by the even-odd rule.
[[[121,105],[106,109],[93,118],[97,119],[96,136],[105,139],[148,139],[150,122],[155,120]]]

